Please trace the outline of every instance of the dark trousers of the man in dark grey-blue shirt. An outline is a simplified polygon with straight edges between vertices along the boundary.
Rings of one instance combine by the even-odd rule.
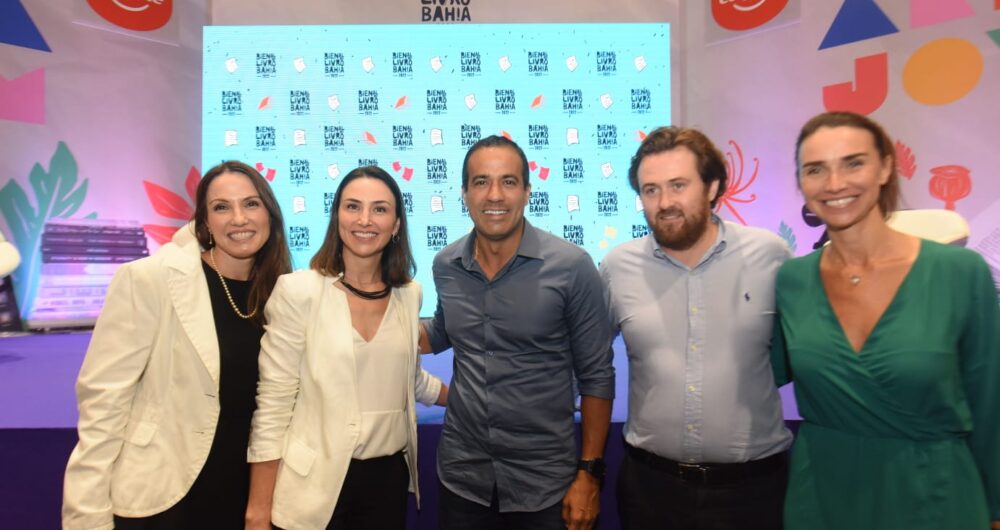
[[[438,524],[441,530],[565,530],[562,500],[537,512],[501,512],[493,487],[490,506],[460,497],[444,484],[438,488]]]

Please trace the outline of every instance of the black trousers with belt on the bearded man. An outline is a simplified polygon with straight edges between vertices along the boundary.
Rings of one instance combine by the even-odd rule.
[[[788,461],[731,484],[685,481],[627,451],[618,473],[622,530],[781,530]]]

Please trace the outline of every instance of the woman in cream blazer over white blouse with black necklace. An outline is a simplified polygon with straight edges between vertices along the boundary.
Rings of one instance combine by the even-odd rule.
[[[265,310],[248,529],[404,527],[414,401],[447,399],[420,368],[413,270],[399,186],[351,171],[310,270],[279,278]]]

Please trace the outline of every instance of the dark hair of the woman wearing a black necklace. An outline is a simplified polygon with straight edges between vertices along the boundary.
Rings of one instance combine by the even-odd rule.
[[[399,231],[396,232],[396,235],[399,238],[390,239],[389,244],[382,249],[382,281],[389,287],[406,285],[416,274],[417,266],[410,250],[410,237],[406,228],[406,210],[403,207],[403,192],[400,191],[395,179],[378,166],[364,166],[351,170],[340,181],[333,198],[330,222],[326,227],[326,237],[323,238],[323,244],[319,247],[316,255],[309,261],[309,268],[326,276],[336,276],[344,272],[344,242],[340,239],[340,220],[338,217],[340,202],[344,188],[351,181],[359,178],[381,181],[396,199],[396,218],[399,219]]]

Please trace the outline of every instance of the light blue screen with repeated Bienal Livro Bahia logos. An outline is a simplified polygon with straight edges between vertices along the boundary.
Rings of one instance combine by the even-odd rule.
[[[339,178],[375,164],[405,193],[422,313],[434,254],[471,228],[470,145],[507,135],[531,162],[532,223],[600,260],[645,233],[628,186],[645,131],[670,123],[666,24],[210,26],[203,167],[256,165],[297,268],[322,243]]]

